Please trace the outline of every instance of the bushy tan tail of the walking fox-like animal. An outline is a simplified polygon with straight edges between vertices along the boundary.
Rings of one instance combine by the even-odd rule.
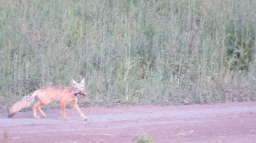
[[[12,107],[9,109],[8,117],[13,116],[15,113],[19,112],[23,108],[29,107],[33,103],[36,95],[37,91],[34,91],[33,93],[26,95],[25,97],[23,97],[22,100],[12,105]]]

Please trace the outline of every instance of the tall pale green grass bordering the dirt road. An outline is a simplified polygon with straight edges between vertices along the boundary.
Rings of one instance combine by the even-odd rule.
[[[1,0],[0,105],[83,77],[85,106],[255,100],[255,34],[253,0]]]

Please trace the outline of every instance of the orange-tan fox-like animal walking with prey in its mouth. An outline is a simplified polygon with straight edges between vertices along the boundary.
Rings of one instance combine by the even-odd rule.
[[[62,110],[62,115],[64,120],[69,120],[66,115],[66,104],[71,101],[73,107],[79,113],[79,115],[84,119],[88,120],[86,116],[84,116],[83,112],[80,110],[77,105],[77,97],[85,97],[88,95],[84,92],[85,79],[82,79],[80,83],[77,83],[74,79],[71,81],[72,87],[62,87],[62,86],[46,86],[42,87],[26,96],[23,97],[22,100],[19,100],[17,103],[12,105],[9,109],[8,117],[10,118],[21,109],[29,107],[34,99],[38,99],[38,103],[32,107],[32,112],[34,118],[40,118],[37,115],[37,110],[41,113],[42,117],[46,117],[46,114],[41,110],[42,106],[49,104],[52,100],[60,101],[60,107]]]

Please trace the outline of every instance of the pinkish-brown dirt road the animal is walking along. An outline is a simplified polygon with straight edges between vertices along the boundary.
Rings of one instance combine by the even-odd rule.
[[[256,103],[188,106],[128,106],[0,114],[0,143],[132,143],[145,132],[155,143],[256,143]]]

